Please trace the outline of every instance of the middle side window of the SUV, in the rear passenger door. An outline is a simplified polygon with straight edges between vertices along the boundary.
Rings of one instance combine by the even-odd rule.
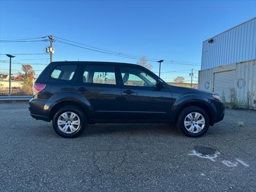
[[[114,66],[87,65],[83,74],[83,82],[116,84],[115,68]]]

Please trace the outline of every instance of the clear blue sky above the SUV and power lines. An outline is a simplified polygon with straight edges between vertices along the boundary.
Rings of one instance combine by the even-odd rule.
[[[256,16],[256,1],[0,1],[0,38],[54,35],[121,53],[176,61],[201,62],[202,41]],[[1,43],[0,53],[43,53],[48,42]],[[84,60],[136,63],[136,60],[54,43],[53,61]],[[17,55],[36,74],[48,55]],[[0,55],[0,60],[8,60]],[[40,65],[35,65],[38,63]],[[150,62],[158,72],[158,63]],[[41,65],[43,64],[43,65]],[[8,63],[0,71],[8,72]],[[13,64],[13,73],[20,70]],[[200,70],[200,66],[162,64],[161,72]],[[158,73],[157,73],[158,74]],[[188,72],[162,73],[165,80]],[[195,75],[197,76],[197,74]],[[169,79],[167,79],[169,78]],[[196,78],[195,78],[196,81]]]

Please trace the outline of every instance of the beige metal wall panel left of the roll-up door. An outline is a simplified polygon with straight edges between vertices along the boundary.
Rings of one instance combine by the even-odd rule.
[[[199,86],[201,90],[212,91],[213,85],[213,72],[212,69],[199,71]]]

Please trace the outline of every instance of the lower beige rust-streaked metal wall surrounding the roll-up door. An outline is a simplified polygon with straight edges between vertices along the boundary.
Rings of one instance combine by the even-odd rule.
[[[235,70],[234,87],[237,92],[238,100],[245,100],[246,92],[249,91],[250,106],[256,107],[256,60],[199,71],[199,89],[213,91],[214,74],[230,70]],[[223,79],[223,81],[223,83],[225,83],[225,79]],[[225,94],[230,94],[230,92]]]

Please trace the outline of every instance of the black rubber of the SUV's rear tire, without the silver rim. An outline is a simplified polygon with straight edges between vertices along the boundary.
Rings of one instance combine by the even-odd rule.
[[[80,119],[80,126],[77,126],[77,130],[73,133],[64,133],[60,130],[60,128],[58,127],[58,118],[60,117],[61,114],[63,114],[64,112],[74,112],[75,114],[77,114],[77,116],[79,117]],[[65,106],[65,107],[62,107],[60,108],[55,114],[54,114],[54,117],[52,119],[52,126],[54,128],[54,131],[64,137],[64,138],[75,138],[77,137],[78,135],[80,135],[84,129],[86,128],[86,125],[87,125],[87,120],[86,120],[86,116],[84,114],[84,112],[76,107],[76,106]]]

